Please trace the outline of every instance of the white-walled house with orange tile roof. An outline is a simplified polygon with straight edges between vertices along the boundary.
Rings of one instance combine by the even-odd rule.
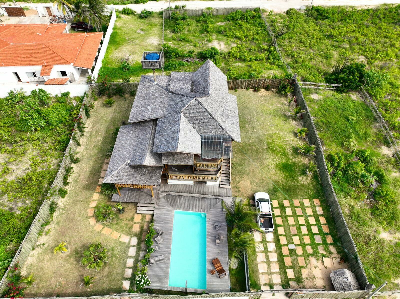
[[[66,84],[82,71],[91,75],[103,33],[67,34],[66,26],[0,25],[0,83]]]

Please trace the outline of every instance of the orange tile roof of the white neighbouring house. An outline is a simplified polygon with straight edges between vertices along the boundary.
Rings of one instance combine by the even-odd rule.
[[[45,76],[50,75],[50,65],[92,68],[103,36],[102,32],[60,33],[66,24],[17,25],[0,25],[0,67],[43,65]]]

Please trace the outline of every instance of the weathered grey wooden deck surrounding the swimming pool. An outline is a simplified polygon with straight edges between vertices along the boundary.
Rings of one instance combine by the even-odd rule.
[[[176,186],[176,185],[175,185]],[[182,185],[179,185],[182,186]],[[187,187],[186,185],[184,185]],[[188,185],[190,186],[190,185]],[[196,186],[196,185],[191,185]],[[210,186],[208,186],[210,187]],[[218,187],[219,186],[211,186]],[[172,188],[174,189],[174,188]],[[193,189],[185,189],[188,194],[192,194]],[[228,188],[220,188],[228,189]],[[167,191],[167,190],[165,190]],[[229,189],[230,191],[230,189]],[[168,192],[168,191],[167,191]],[[172,192],[172,191],[169,191]],[[173,193],[175,193],[174,191]],[[218,292],[230,292],[230,281],[229,281],[229,267],[228,267],[228,241],[227,241],[227,230],[225,214],[222,210],[221,201],[222,198],[216,197],[204,197],[201,196],[187,196],[179,194],[166,194],[160,191],[158,194],[157,208],[154,211],[154,228],[159,227],[164,231],[162,238],[164,241],[158,246],[159,251],[152,253],[152,257],[158,255],[165,255],[166,262],[158,263],[148,266],[148,276],[151,281],[149,288],[152,289],[164,289],[173,291],[188,291],[202,293],[202,289],[186,289],[184,287],[170,287],[168,286],[169,272],[170,272],[170,257],[171,257],[171,246],[172,246],[172,229],[174,224],[174,211],[189,211],[189,212],[205,212],[206,213],[206,246],[207,246],[207,289],[208,293]],[[225,195],[226,196],[226,195]],[[214,228],[215,222],[220,222],[221,228],[216,231]],[[215,235],[220,233],[224,236],[224,240],[220,245],[216,245]],[[154,241],[155,247],[157,243]],[[210,271],[214,269],[212,259],[218,257],[222,266],[226,270],[227,276],[219,278],[217,274],[211,275]],[[184,267],[184,265],[182,265]]]

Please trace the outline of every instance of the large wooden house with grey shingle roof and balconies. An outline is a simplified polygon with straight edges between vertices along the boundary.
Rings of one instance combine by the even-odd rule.
[[[103,182],[151,190],[161,183],[230,187],[232,141],[240,142],[236,96],[212,61],[156,82],[143,75]]]

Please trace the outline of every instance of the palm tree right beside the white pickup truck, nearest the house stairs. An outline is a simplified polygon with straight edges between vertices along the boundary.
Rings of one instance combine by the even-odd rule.
[[[224,201],[222,201],[222,208],[227,212],[226,223],[228,226],[237,228],[238,230],[250,231],[258,230],[258,225],[256,224],[257,212],[252,211],[248,204],[245,204],[242,200],[234,198],[230,206],[227,206]]]

